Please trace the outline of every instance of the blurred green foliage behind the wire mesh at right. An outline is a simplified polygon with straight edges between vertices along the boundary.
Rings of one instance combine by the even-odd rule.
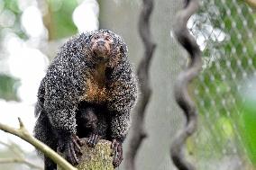
[[[214,7],[212,13],[210,6]],[[193,152],[206,157],[206,149],[215,148],[208,158],[224,157],[224,154],[234,154],[235,148],[242,159],[248,153],[251,160],[245,158],[244,161],[256,164],[256,101],[244,101],[240,94],[242,85],[246,85],[256,68],[253,49],[256,14],[241,1],[215,0],[214,4],[207,1],[203,4],[198,18],[204,15],[214,29],[224,32],[225,39],[207,40],[203,51],[205,68],[190,87],[197,91],[193,95],[202,125],[195,137],[199,145],[195,144]],[[201,26],[197,25],[196,29],[202,31]],[[211,62],[206,62],[210,59]]]

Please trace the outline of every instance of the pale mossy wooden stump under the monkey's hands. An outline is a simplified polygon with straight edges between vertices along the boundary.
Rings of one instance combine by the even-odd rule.
[[[87,139],[82,139],[87,142]],[[82,148],[83,156],[80,157],[78,170],[114,170],[112,165],[113,157],[110,157],[112,149],[111,142],[101,139],[95,148],[84,145]],[[61,170],[58,167],[58,170]]]

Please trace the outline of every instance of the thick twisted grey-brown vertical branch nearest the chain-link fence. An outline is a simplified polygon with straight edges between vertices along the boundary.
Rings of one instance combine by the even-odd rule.
[[[187,21],[190,16],[197,11],[197,8],[197,0],[185,0],[185,8],[178,13],[176,19],[177,23],[175,24],[176,27],[174,29],[177,40],[185,49],[187,49],[190,57],[190,63],[187,69],[178,75],[174,88],[175,99],[187,118],[186,127],[179,131],[170,149],[172,160],[179,170],[195,169],[195,167],[187,162],[183,156],[182,148],[187,138],[192,135],[197,127],[196,106],[187,93],[187,85],[195,76],[197,76],[201,69],[201,51],[197,46],[196,40],[187,30]]]

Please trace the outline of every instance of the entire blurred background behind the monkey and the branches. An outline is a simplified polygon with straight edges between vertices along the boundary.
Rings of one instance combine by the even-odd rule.
[[[32,132],[41,78],[59,47],[79,32],[109,29],[121,35],[136,68],[143,52],[137,31],[141,5],[139,0],[0,0],[0,121],[18,127],[21,117]],[[185,118],[172,88],[187,53],[172,27],[181,7],[181,1],[155,1],[151,15],[157,49],[145,120],[149,137],[139,150],[138,169],[176,169],[169,146]],[[199,122],[186,151],[199,170],[256,169],[255,26],[256,13],[242,0],[202,1],[187,23],[203,52],[202,72],[189,86]],[[36,157],[31,145],[0,131],[0,169],[42,168]],[[13,158],[32,165],[6,164]]]

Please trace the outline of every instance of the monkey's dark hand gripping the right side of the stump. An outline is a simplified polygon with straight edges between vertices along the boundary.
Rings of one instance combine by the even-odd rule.
[[[115,168],[120,166],[121,162],[123,161],[123,146],[121,142],[114,139],[112,141],[111,148],[113,149],[113,166]]]

